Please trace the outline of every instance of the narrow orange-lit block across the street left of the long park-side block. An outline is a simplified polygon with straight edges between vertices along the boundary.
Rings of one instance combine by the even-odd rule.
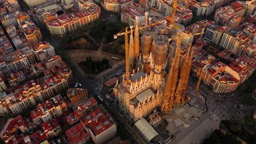
[[[30,43],[30,45],[36,45],[41,41],[42,34],[40,29],[34,25],[34,22],[30,19],[25,12],[21,12],[17,15],[19,26],[23,29],[23,32]]]

